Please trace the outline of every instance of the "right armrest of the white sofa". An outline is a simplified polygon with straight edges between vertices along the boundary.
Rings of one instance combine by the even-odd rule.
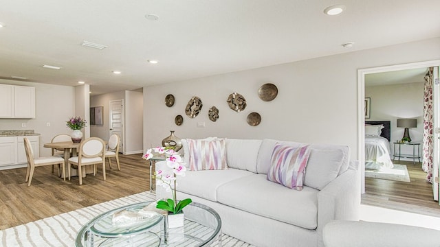
[[[351,163],[346,172],[340,174],[318,192],[318,246],[322,243],[322,228],[331,220],[359,220],[360,217],[360,173],[359,166]]]

